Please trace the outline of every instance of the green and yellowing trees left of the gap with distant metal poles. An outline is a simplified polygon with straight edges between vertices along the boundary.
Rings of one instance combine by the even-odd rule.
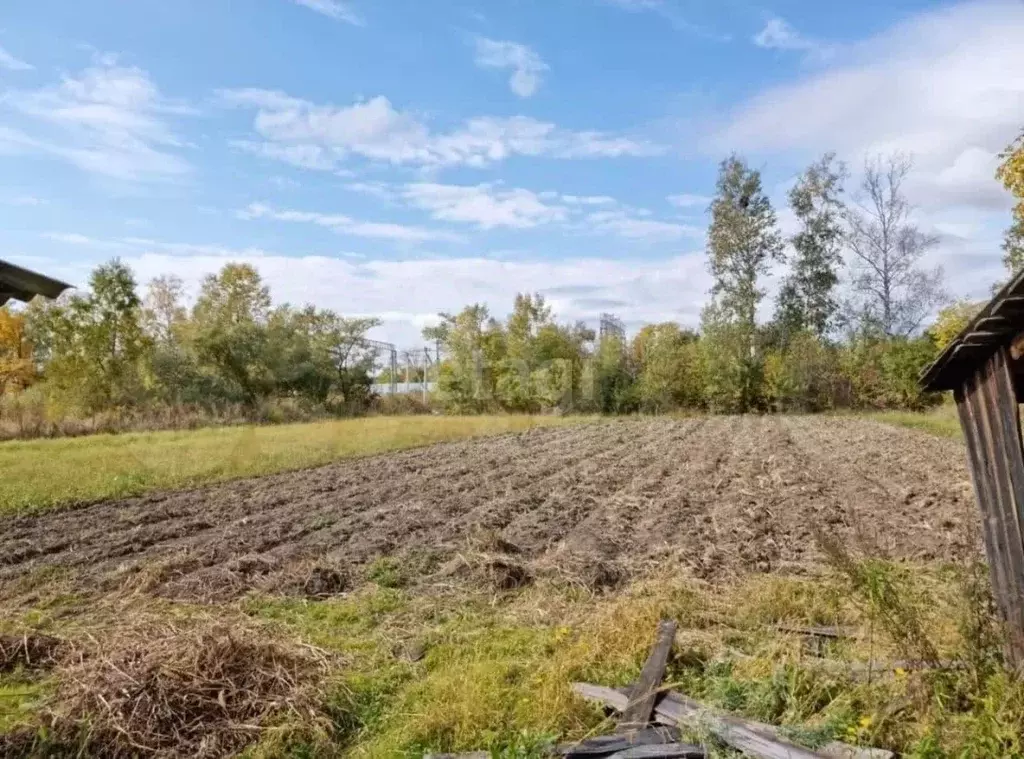
[[[193,409],[245,418],[351,414],[371,397],[375,319],[274,306],[251,265],[207,277],[190,307],[174,276],[140,294],[115,259],[88,289],[0,309],[0,398],[48,417]],[[287,403],[282,403],[287,402]]]

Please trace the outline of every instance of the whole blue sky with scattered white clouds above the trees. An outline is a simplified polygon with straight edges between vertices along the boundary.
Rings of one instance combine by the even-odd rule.
[[[835,150],[855,181],[899,150],[929,262],[984,295],[1024,4],[765,2],[7,0],[0,257],[191,291],[245,260],[403,347],[525,290],[693,325],[718,161],[762,169],[792,231],[807,163]]]

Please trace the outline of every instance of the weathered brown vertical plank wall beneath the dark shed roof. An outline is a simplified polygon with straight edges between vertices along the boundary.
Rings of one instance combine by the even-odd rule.
[[[995,352],[954,392],[1007,656],[1024,665],[1024,450],[1009,351]]]

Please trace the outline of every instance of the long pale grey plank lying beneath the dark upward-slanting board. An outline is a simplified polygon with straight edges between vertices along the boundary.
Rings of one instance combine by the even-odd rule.
[[[573,683],[572,688],[583,698],[601,702],[617,711],[623,711],[630,703],[630,697],[614,688],[589,683]],[[820,754],[809,749],[769,737],[757,729],[759,726],[770,728],[770,725],[726,716],[674,691],[658,699],[654,712],[658,719],[669,724],[703,726],[722,743],[755,759],[822,759]]]

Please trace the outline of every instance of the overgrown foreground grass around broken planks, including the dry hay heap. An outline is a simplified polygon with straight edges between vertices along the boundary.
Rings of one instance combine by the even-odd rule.
[[[38,714],[114,756],[249,746],[247,756],[261,757],[540,757],[551,741],[610,728],[569,684],[630,682],[657,621],[671,618],[680,624],[674,687],[805,745],[840,739],[923,759],[1021,748],[1024,686],[1002,674],[997,642],[972,632],[984,605],[962,591],[962,570],[873,561],[853,576],[725,586],[666,571],[600,593],[553,578],[498,590],[493,577],[443,575],[414,593],[385,587],[383,570],[377,577],[323,600],[253,597],[216,607],[218,621],[166,602],[144,606],[145,623],[127,632],[126,614],[95,618],[74,630],[71,650],[86,656],[50,671],[55,689]],[[876,667],[865,678],[858,663],[921,658],[889,629],[894,599],[937,657],[967,666]],[[779,629],[806,625],[851,635],[822,648]]]

